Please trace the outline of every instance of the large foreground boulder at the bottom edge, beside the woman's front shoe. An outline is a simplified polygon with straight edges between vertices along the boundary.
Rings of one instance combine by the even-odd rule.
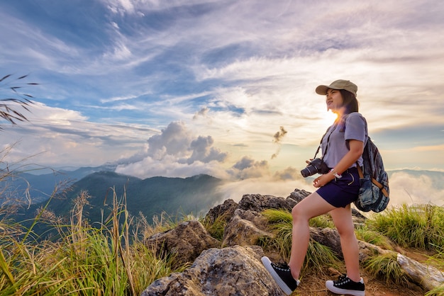
[[[259,246],[209,249],[182,273],[160,278],[141,296],[283,295],[260,261]]]

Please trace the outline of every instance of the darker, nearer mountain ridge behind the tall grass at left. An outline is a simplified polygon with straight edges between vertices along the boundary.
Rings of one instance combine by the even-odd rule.
[[[222,202],[223,195],[217,188],[223,181],[209,175],[196,175],[189,178],[152,177],[140,179],[112,171],[90,173],[72,183],[70,190],[52,198],[48,210],[57,217],[69,218],[74,207],[74,198],[87,191],[90,198],[84,207],[84,217],[90,223],[101,222],[113,207],[113,194],[123,203],[133,216],[141,213],[148,222],[154,215],[166,213],[175,215],[204,215],[213,205]],[[47,201],[31,205],[21,210],[13,219],[17,222],[33,219],[35,212]]]

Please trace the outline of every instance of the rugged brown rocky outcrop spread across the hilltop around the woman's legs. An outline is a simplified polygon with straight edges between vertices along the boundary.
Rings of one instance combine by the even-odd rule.
[[[243,195],[239,203],[226,200],[213,207],[205,221],[226,222],[222,243],[213,239],[198,221],[182,222],[175,229],[148,238],[146,244],[157,254],[174,254],[178,263],[194,263],[182,273],[156,280],[142,295],[283,295],[260,262],[263,250],[255,246],[260,239],[272,237],[267,220],[260,212],[269,208],[291,210],[307,195],[306,191],[297,189],[287,198]],[[357,211],[353,216],[356,224],[365,220]],[[311,227],[310,232],[313,240],[342,256],[335,229]],[[359,241],[359,246],[360,261],[374,254],[393,252],[364,241]],[[267,256],[272,257],[272,254]],[[426,290],[444,283],[443,273],[435,268],[401,254],[397,258],[410,278]]]

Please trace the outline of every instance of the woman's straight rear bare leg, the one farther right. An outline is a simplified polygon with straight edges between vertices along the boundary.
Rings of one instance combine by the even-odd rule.
[[[343,251],[348,278],[357,282],[361,278],[359,272],[359,246],[355,236],[351,207],[350,205],[345,208],[337,207],[330,212],[330,215],[339,232],[340,247]]]

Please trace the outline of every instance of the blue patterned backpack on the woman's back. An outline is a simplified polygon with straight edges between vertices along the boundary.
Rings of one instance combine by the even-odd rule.
[[[360,175],[359,198],[355,200],[355,206],[363,212],[381,212],[389,204],[389,176],[384,171],[382,156],[376,145],[370,140],[365,144],[362,153],[363,171],[357,166]]]

